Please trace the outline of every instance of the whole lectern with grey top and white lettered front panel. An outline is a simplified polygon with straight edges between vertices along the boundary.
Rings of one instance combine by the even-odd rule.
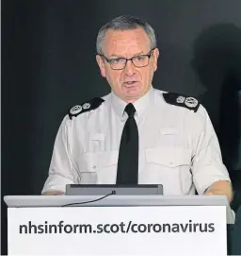
[[[4,199],[8,255],[224,256],[234,223],[226,196]]]

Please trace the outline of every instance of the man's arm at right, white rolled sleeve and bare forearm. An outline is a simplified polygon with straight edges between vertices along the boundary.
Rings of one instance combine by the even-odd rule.
[[[194,116],[192,171],[197,191],[204,195],[224,195],[231,202],[232,182],[208,113],[200,106]]]

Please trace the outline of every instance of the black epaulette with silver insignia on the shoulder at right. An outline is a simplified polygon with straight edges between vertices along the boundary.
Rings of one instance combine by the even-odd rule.
[[[200,101],[194,97],[176,93],[165,93],[163,94],[163,97],[167,103],[175,106],[185,107],[191,111],[196,112],[200,107]]]

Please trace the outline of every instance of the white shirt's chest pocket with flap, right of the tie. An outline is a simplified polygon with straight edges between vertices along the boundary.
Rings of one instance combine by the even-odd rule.
[[[191,151],[180,147],[146,148],[149,183],[162,184],[165,195],[185,195],[192,185]]]

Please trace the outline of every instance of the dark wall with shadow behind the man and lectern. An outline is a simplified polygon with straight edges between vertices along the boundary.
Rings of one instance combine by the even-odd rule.
[[[95,62],[97,32],[114,16],[130,14],[156,32],[161,56],[153,86],[199,96],[209,112],[233,179],[237,211],[240,13],[240,0],[2,0],[2,196],[40,195],[67,110],[109,92]],[[1,230],[2,254],[7,254],[3,201]],[[237,247],[232,249],[234,254]]]

